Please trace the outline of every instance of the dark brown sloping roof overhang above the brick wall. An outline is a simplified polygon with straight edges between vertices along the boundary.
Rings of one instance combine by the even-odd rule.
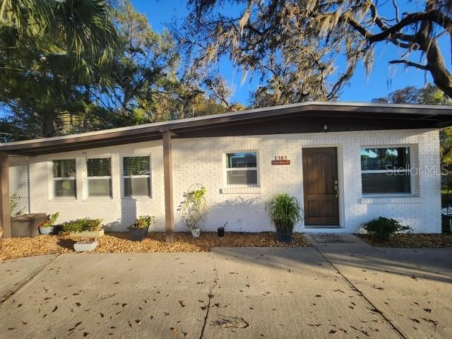
[[[294,128],[294,124],[299,126]],[[309,124],[310,126],[308,126]],[[328,131],[439,129],[452,125],[452,107],[357,102],[301,102],[70,136],[0,143],[0,153],[33,156],[155,141],[162,138],[163,131],[172,131],[174,138],[256,135],[259,133],[312,133],[323,131],[323,124],[331,124],[332,129],[328,128]],[[300,126],[306,127],[301,129]]]

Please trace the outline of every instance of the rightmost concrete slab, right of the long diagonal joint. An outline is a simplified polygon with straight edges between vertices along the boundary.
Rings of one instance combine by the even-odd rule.
[[[315,246],[406,338],[452,338],[452,249]]]

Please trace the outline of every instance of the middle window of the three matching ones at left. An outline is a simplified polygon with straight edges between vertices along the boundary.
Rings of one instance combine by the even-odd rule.
[[[112,197],[112,159],[96,157],[86,160],[88,197]]]

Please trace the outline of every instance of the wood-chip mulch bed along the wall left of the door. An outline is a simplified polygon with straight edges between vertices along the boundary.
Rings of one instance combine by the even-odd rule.
[[[165,242],[165,233],[150,232],[142,242],[132,242],[126,232],[109,232],[97,239],[99,244],[90,253],[152,253],[152,252],[208,252],[213,247],[309,247],[311,244],[299,233],[292,243],[278,242],[273,232],[226,232],[218,237],[216,232],[203,232],[195,239],[191,233],[176,233],[173,243]],[[38,235],[34,238],[4,239],[0,260],[42,254],[73,253],[76,239],[60,235]]]

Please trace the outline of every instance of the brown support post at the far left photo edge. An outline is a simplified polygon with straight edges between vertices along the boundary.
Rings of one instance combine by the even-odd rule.
[[[0,239],[11,238],[11,210],[9,207],[9,156],[0,154]]]

